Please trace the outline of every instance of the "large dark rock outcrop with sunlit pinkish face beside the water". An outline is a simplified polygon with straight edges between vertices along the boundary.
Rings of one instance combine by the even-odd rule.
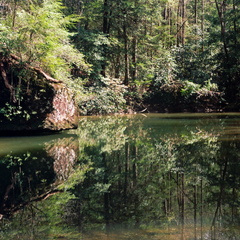
[[[41,69],[0,55],[0,134],[77,127],[70,89]]]

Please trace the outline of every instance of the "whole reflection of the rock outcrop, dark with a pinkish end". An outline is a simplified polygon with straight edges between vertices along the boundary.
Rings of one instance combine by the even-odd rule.
[[[77,154],[77,141],[71,137],[48,141],[45,148],[2,157],[0,214],[11,214],[58,192],[54,182],[70,175]]]

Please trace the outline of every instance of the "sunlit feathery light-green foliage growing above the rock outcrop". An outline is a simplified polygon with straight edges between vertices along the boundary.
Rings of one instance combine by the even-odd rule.
[[[22,61],[61,80],[69,77],[72,64],[87,68],[83,55],[71,44],[67,30],[78,18],[64,16],[60,1],[44,0],[40,5],[31,4],[29,9],[17,9],[15,14],[14,26],[11,15],[1,24],[0,51],[16,54]]]

